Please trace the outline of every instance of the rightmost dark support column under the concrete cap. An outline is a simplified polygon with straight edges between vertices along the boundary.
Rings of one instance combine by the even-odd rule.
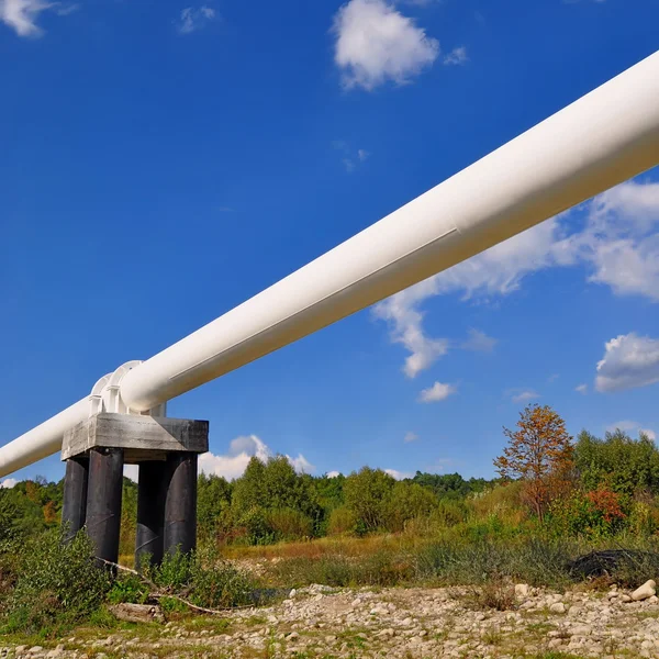
[[[165,551],[188,554],[197,547],[197,454],[167,456]]]

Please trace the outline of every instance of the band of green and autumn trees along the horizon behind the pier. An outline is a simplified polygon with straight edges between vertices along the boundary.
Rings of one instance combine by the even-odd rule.
[[[529,405],[494,460],[499,478],[417,471],[395,480],[362,467],[349,476],[298,473],[283,456],[252,458],[227,481],[200,474],[200,539],[265,545],[373,533],[478,534],[523,528],[560,535],[641,535],[659,528],[659,450],[643,433],[615,431],[573,439],[548,406]],[[58,523],[63,482],[23,481],[0,490],[2,535],[33,534]],[[132,551],[136,484],[124,479],[122,552]],[[479,530],[480,529],[480,530]],[[498,530],[499,529],[499,530]]]

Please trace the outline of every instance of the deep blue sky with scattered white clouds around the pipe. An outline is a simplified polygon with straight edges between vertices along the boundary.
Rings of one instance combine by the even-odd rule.
[[[2,443],[659,47],[654,0],[189,2],[0,0]],[[169,413],[230,477],[490,477],[536,401],[659,433],[658,227],[655,170]]]

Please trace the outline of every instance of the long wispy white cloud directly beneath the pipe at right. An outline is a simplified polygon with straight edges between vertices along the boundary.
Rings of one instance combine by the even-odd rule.
[[[615,294],[659,301],[658,225],[659,183],[628,181],[383,300],[373,314],[389,322],[392,342],[411,353],[404,370],[414,377],[448,351],[447,339],[428,337],[423,327],[421,308],[436,295],[509,295],[535,272],[582,266],[589,281]]]

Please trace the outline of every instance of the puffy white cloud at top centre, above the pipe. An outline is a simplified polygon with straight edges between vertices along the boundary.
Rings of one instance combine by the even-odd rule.
[[[386,0],[349,0],[334,18],[334,60],[347,88],[404,85],[431,66],[439,42]]]

